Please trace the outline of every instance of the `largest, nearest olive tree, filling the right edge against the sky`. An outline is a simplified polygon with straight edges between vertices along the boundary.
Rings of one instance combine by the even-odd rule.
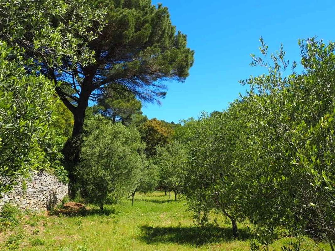
[[[267,46],[261,39],[261,53]],[[243,211],[268,246],[283,236],[335,240],[335,44],[300,40],[304,72],[284,75],[280,48],[269,73],[251,77],[247,129],[235,151],[236,168],[249,170]],[[259,249],[258,244],[252,246]]]

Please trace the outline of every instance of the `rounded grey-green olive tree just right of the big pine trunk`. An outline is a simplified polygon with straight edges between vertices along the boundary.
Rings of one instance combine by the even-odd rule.
[[[87,128],[93,131],[85,137],[76,175],[83,195],[103,210],[108,194],[123,194],[134,187],[144,146],[136,130],[113,124],[101,115],[93,116]]]

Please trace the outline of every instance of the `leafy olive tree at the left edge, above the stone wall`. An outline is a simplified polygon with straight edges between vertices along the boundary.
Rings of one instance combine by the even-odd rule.
[[[33,151],[48,138],[55,103],[53,83],[42,75],[27,75],[22,50],[0,40],[0,192],[41,163]],[[31,161],[34,160],[35,163]]]

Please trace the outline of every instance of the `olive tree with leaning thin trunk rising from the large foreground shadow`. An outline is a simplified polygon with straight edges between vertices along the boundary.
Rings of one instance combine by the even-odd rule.
[[[244,103],[237,100],[228,110],[184,125],[188,161],[184,191],[195,218],[200,223],[209,220],[210,212],[224,214],[232,224],[232,234],[238,236],[237,221],[243,220],[236,200],[241,186],[241,170],[233,164],[233,153],[244,126]]]

